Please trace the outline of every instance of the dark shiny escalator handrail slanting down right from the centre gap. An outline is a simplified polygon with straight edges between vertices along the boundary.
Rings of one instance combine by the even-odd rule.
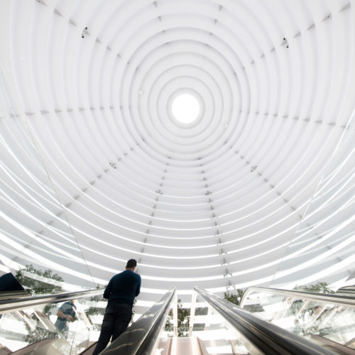
[[[213,293],[198,288],[195,291],[237,330],[246,344],[256,346],[263,354],[335,355]]]

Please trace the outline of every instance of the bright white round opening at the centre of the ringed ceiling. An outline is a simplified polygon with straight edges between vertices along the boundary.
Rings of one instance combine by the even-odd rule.
[[[190,94],[180,94],[175,97],[171,110],[179,122],[190,124],[200,114],[200,103]]]

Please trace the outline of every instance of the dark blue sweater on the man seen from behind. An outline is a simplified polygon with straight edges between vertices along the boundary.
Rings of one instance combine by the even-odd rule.
[[[104,298],[109,300],[108,305],[124,303],[133,307],[134,297],[141,292],[141,276],[131,270],[114,275],[109,281]]]

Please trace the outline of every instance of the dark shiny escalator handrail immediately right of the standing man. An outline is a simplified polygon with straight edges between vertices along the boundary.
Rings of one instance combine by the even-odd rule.
[[[175,287],[165,293],[158,302],[155,302],[146,313],[102,351],[100,355],[153,354],[152,351],[159,341],[159,334],[165,324],[174,296]]]

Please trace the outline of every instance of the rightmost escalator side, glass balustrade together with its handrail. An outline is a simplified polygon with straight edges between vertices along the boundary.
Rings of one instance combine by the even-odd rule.
[[[355,354],[355,288],[319,294],[249,288],[241,307],[303,339],[339,354]]]

